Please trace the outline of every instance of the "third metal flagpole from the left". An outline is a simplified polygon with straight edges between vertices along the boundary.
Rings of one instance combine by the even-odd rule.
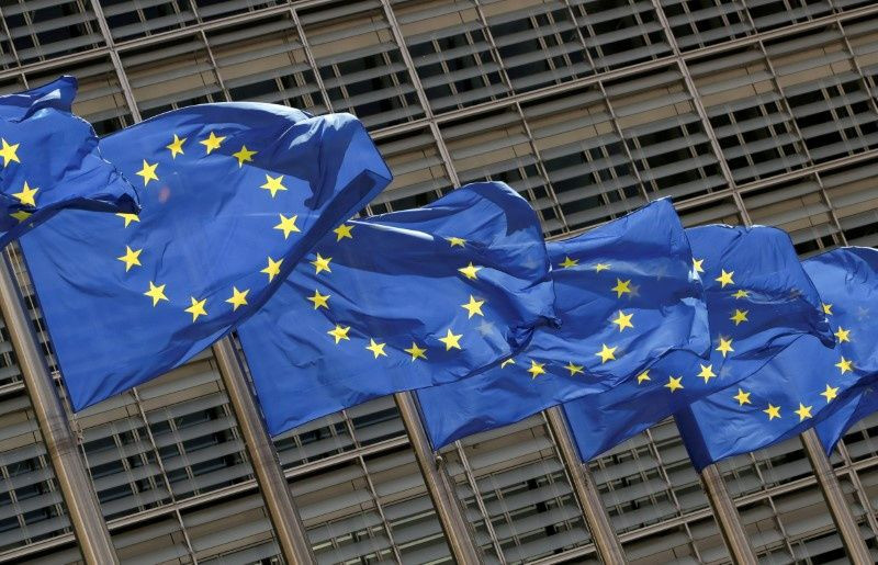
[[[429,491],[432,506],[439,516],[454,561],[461,565],[484,563],[482,550],[475,543],[475,532],[470,527],[463,507],[454,494],[451,478],[437,464],[432,445],[430,445],[427,432],[420,421],[420,413],[415,398],[412,393],[396,393],[393,397],[403,418],[412,449],[415,450],[420,474],[424,476],[424,483],[427,485],[427,491]]]

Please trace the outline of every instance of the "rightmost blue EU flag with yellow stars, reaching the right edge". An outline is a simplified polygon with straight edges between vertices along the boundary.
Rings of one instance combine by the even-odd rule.
[[[676,415],[699,470],[802,432],[844,408],[837,399],[878,371],[878,329],[862,317],[878,292],[878,251],[836,249],[802,265],[820,292],[835,347],[804,336],[735,386]]]

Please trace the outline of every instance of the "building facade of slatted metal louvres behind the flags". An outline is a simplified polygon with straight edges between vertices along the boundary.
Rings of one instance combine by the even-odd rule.
[[[368,213],[493,179],[547,236],[673,196],[687,225],[776,225],[802,256],[878,244],[868,1],[2,0],[0,13],[0,91],[76,75],[76,111],[101,133],[228,100],[357,114],[395,174]],[[0,561],[77,562],[1,337]],[[210,352],[70,421],[124,562],[282,561]],[[878,416],[832,463],[878,555],[873,434]],[[275,444],[320,563],[451,560],[391,398]],[[442,456],[492,562],[598,562],[542,416]],[[628,561],[730,561],[673,420],[590,467]],[[763,562],[845,562],[798,439],[720,468]]]

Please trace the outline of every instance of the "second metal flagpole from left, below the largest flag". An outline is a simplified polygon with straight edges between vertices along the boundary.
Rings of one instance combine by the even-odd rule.
[[[230,338],[225,337],[216,341],[212,349],[281,552],[290,564],[316,563],[278,453],[256,407],[235,346]]]

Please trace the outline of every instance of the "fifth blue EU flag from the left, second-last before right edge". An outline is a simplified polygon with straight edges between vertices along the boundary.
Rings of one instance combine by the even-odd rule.
[[[789,236],[772,227],[686,230],[705,281],[710,357],[675,353],[621,386],[564,406],[583,461],[758,371],[803,335],[832,343]]]

